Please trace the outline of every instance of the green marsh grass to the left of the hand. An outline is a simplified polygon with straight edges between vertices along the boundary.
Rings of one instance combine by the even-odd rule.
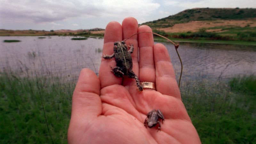
[[[0,143],[67,143],[75,84],[0,75]]]

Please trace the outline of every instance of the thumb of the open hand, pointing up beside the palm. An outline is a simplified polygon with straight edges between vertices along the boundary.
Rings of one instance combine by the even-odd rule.
[[[100,81],[90,69],[83,69],[72,96],[71,120],[88,119],[101,114]]]

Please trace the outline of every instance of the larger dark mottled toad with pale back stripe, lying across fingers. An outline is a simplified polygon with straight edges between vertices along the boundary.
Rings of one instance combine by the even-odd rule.
[[[128,50],[127,45],[124,41],[117,41],[114,43],[114,53],[112,55],[104,55],[104,59],[112,59],[115,57],[116,67],[112,68],[112,72],[117,77],[128,76],[136,80],[136,85],[139,91],[143,91],[143,87],[140,85],[140,80],[138,76],[132,71],[132,56],[133,44],[131,44],[130,49]]]

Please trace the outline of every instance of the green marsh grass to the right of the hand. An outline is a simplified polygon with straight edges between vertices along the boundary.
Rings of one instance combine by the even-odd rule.
[[[202,143],[256,142],[256,76],[185,84],[181,91]]]

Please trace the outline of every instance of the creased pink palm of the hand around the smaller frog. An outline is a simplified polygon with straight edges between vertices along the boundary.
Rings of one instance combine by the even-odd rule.
[[[190,135],[194,126],[182,102],[177,98],[155,91],[130,92],[135,95],[132,96],[120,85],[109,86],[101,92],[103,116],[98,124],[106,126],[102,128],[102,131],[106,131],[102,134],[104,140],[110,143],[124,140],[130,143],[184,143],[189,137],[194,137]],[[164,114],[161,131],[157,131],[156,127],[144,127],[146,115],[152,109],[160,109]],[[182,134],[182,131],[187,132]]]

